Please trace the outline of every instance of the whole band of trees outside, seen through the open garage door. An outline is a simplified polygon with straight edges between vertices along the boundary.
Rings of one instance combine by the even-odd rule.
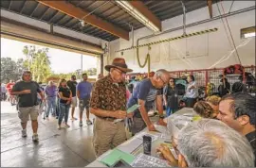
[[[48,50],[48,48],[39,49],[34,45],[26,45],[23,49],[26,59],[15,61],[10,58],[1,58],[1,82],[17,81],[25,70],[29,70],[32,73],[33,80],[43,83],[46,83],[50,78],[69,80],[72,75],[77,76],[79,79],[83,73],[86,73],[88,76],[97,75],[96,68],[84,70],[82,73],[79,70],[68,74],[55,74],[50,67]]]

